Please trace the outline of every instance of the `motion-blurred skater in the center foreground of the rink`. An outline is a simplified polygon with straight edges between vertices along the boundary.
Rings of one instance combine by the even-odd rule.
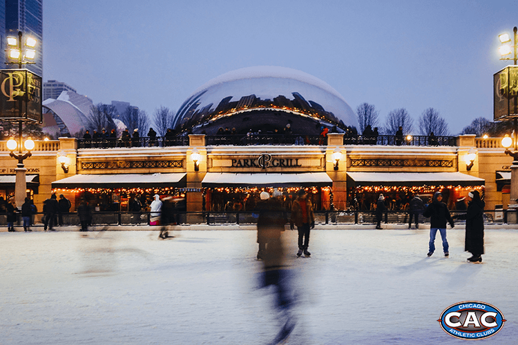
[[[285,264],[285,250],[280,236],[287,223],[287,217],[282,210],[280,192],[274,195],[276,197],[271,199],[266,192],[262,192],[260,195],[262,205],[258,208],[257,231],[258,239],[264,241],[264,247],[260,255],[263,263],[262,287],[274,287],[277,297],[275,307],[278,311],[278,319],[282,324],[282,328],[271,344],[279,344],[287,339],[293,331],[296,320],[291,315],[293,299],[290,295],[291,288],[287,265]]]

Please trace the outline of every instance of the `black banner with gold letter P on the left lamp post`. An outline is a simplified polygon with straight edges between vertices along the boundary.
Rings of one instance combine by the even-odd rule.
[[[0,120],[41,123],[41,87],[30,70],[0,70]]]

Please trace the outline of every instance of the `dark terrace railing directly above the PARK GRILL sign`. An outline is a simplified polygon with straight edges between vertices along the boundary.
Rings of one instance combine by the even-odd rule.
[[[327,137],[320,135],[207,135],[207,145],[327,145]]]

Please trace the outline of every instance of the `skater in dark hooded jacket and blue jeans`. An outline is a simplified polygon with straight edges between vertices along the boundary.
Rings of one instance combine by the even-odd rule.
[[[450,226],[454,228],[454,222],[452,216],[450,215],[450,210],[448,210],[448,206],[443,203],[443,194],[441,192],[437,192],[434,194],[434,199],[432,204],[428,205],[428,207],[423,212],[424,217],[430,217],[430,242],[429,242],[429,250],[428,257],[431,257],[435,251],[435,236],[437,235],[437,230],[441,233],[441,239],[443,240],[443,251],[444,256],[448,257],[449,253],[449,245],[448,240],[446,239],[446,221],[450,223]]]

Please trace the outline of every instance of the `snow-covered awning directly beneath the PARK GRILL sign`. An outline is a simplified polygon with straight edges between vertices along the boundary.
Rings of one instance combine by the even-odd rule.
[[[203,187],[290,187],[290,186],[332,186],[333,180],[326,172],[301,172],[291,174],[271,173],[233,173],[207,172]]]

